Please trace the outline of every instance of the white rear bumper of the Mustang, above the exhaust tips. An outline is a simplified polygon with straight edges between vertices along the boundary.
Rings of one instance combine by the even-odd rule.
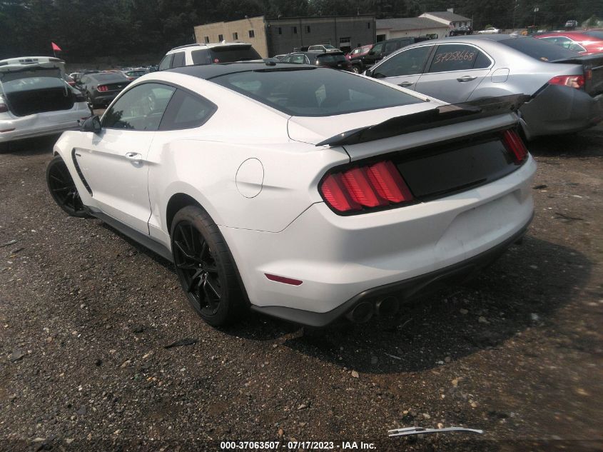
[[[316,203],[279,233],[221,232],[255,311],[325,326],[362,301],[407,298],[485,266],[525,233],[535,168],[530,158],[491,184],[400,209],[338,216]]]

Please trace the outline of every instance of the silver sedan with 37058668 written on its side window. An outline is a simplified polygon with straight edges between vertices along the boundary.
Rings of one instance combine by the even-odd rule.
[[[365,75],[458,104],[527,94],[527,139],[587,129],[603,119],[603,55],[581,56],[539,39],[455,36],[406,46]]]

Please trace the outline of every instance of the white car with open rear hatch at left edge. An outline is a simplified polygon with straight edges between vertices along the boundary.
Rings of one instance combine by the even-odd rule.
[[[64,61],[23,56],[0,61],[0,146],[80,128],[91,115],[64,79]]]

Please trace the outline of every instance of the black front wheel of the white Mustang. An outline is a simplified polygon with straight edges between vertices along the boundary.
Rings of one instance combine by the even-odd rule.
[[[46,167],[46,184],[56,204],[59,204],[67,214],[78,218],[90,216],[83,206],[74,179],[71,178],[61,156],[56,156]]]

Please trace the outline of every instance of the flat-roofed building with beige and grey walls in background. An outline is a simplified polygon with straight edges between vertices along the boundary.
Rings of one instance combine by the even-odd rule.
[[[288,54],[313,44],[344,51],[375,42],[374,16],[250,17],[195,27],[198,44],[223,40],[248,42],[260,56]]]

